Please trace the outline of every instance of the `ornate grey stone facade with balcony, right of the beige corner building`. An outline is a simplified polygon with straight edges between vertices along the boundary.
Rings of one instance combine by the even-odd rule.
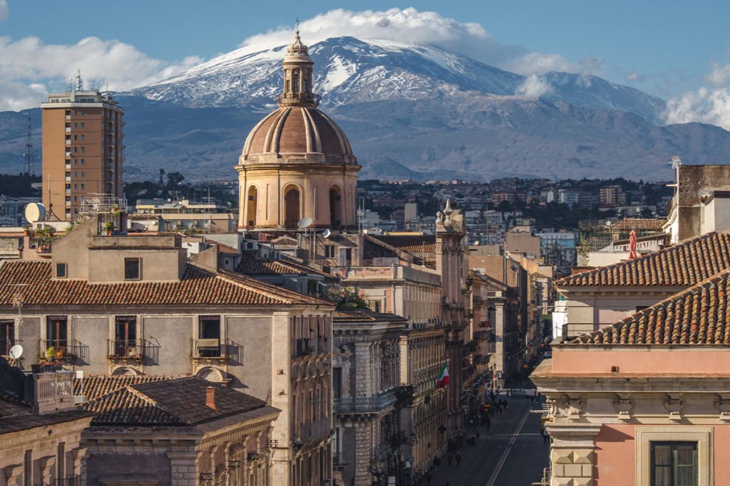
[[[371,485],[380,475],[404,479],[402,445],[410,431],[400,426],[399,340],[405,324],[366,310],[335,313],[334,458],[347,486]]]

